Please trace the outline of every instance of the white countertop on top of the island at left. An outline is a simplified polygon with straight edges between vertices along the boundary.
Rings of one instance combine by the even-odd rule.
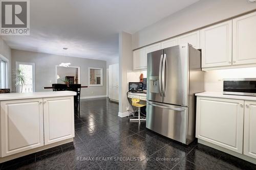
[[[0,101],[18,100],[18,99],[36,99],[36,98],[52,98],[60,96],[76,95],[75,91],[45,91],[30,93],[5,93],[0,94]]]

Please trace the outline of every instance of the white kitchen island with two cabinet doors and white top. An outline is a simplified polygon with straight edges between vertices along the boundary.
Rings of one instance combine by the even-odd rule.
[[[72,142],[74,91],[0,94],[0,163]]]

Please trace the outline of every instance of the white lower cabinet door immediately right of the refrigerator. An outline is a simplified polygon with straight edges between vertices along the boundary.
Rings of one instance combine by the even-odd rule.
[[[196,137],[243,153],[244,101],[197,98]]]

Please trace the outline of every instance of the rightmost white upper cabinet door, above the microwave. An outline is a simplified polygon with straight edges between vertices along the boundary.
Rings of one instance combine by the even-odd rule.
[[[256,64],[256,12],[233,19],[233,65]]]

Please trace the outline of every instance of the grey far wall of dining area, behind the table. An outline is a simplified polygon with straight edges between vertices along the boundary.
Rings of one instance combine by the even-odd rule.
[[[106,95],[106,61],[12,50],[13,69],[15,69],[16,61],[35,63],[36,91],[47,91],[44,87],[52,86],[52,83],[55,83],[55,65],[59,65],[62,62],[69,62],[71,66],[80,67],[80,81],[82,86],[88,86],[89,84],[89,67],[103,68],[103,86],[82,88],[81,97]],[[15,89],[14,85],[13,89]]]

